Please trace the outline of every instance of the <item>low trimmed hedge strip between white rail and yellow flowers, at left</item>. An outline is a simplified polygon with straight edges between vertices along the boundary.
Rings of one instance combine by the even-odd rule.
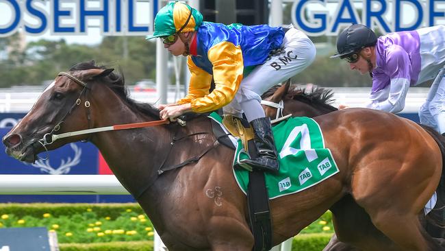
[[[17,217],[41,217],[44,213],[58,217],[60,215],[75,215],[86,212],[88,209],[97,213],[99,217],[110,216],[116,218],[123,211],[130,209],[131,211],[143,214],[142,208],[137,203],[114,203],[114,204],[0,204],[0,215],[14,214]]]

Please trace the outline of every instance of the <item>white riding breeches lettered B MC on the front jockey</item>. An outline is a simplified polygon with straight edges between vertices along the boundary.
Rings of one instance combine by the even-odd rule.
[[[241,117],[244,111],[249,121],[264,117],[261,95],[270,87],[288,80],[314,62],[316,56],[314,43],[303,32],[292,26],[289,28],[283,38],[283,53],[268,57],[263,64],[255,67],[244,77],[231,103],[223,108],[225,113]]]

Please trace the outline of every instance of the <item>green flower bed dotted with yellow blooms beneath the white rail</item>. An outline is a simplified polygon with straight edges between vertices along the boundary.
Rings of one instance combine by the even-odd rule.
[[[106,243],[116,242],[119,245],[119,241],[136,241],[134,248],[141,246],[141,250],[146,250],[146,243],[153,241],[153,225],[142,208],[134,203],[0,204],[0,212],[1,228],[44,226],[49,231],[57,232],[62,250],[101,250],[100,247],[109,245]],[[325,235],[308,235],[314,233]],[[329,241],[332,233],[331,212],[328,211],[303,229],[296,240],[312,243],[315,238],[316,245],[320,246]],[[86,249],[82,243],[90,245],[90,249]],[[99,249],[94,249],[88,243],[97,243]],[[152,245],[149,246],[152,250]]]

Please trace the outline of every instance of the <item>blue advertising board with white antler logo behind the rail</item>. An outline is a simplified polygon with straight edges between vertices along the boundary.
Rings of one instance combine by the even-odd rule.
[[[24,113],[0,113],[0,138],[25,116]],[[28,164],[16,160],[0,150],[0,174],[109,174],[104,173],[99,150],[92,143],[69,143],[57,150],[42,152],[40,159]],[[107,168],[107,167],[106,167]],[[0,195],[0,202],[134,202],[131,195]]]

